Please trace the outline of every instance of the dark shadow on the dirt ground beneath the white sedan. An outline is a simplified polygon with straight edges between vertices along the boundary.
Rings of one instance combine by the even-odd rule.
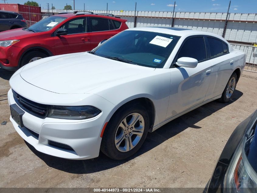
[[[26,141],[25,143],[36,156],[42,159],[48,166],[55,168],[57,170],[62,170],[68,173],[75,174],[99,172],[102,170],[107,170],[119,166],[131,159],[134,159],[139,155],[144,154],[145,152],[148,152],[152,148],[155,148],[156,146],[160,145],[169,138],[172,138],[173,136],[179,134],[188,127],[201,129],[201,127],[196,126],[195,124],[198,123],[200,120],[210,116],[212,113],[215,113],[223,107],[235,102],[242,95],[243,93],[241,91],[235,90],[232,100],[228,103],[220,103],[217,101],[207,103],[189,113],[186,113],[185,115],[176,118],[175,120],[172,120],[171,122],[160,127],[158,130],[152,133],[148,133],[148,136],[140,150],[132,157],[121,161],[112,160],[108,158],[106,155],[104,155],[102,152],[100,152],[99,157],[94,159],[63,159],[38,152],[32,145],[28,144]]]

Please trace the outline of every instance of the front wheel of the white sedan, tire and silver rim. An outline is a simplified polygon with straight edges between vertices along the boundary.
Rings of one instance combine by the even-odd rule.
[[[101,151],[111,159],[126,159],[139,150],[148,130],[149,115],[144,106],[126,105],[107,124]]]

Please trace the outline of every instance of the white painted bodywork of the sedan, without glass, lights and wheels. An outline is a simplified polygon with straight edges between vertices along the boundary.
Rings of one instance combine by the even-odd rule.
[[[151,27],[128,30],[153,31],[181,38],[163,68],[137,66],[82,52],[40,59],[19,69],[10,79],[11,88],[19,95],[40,104],[90,105],[102,111],[86,120],[41,119],[25,112],[24,126],[38,133],[38,139],[10,117],[23,139],[49,155],[66,159],[94,158],[99,154],[102,128],[125,103],[138,98],[151,100],[155,109],[154,131],[176,117],[220,98],[234,70],[241,72],[245,66],[245,53],[227,43],[228,54],[198,63],[196,68],[170,68],[187,37],[210,35],[225,40],[215,34],[194,30]],[[8,100],[10,105],[16,103],[11,90]],[[47,140],[69,145],[74,151],[51,147]]]

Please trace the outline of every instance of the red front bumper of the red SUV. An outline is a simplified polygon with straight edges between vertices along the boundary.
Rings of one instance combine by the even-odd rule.
[[[23,48],[16,46],[0,47],[0,66],[5,70],[15,71],[19,68],[19,58]],[[3,61],[8,60],[8,63]]]

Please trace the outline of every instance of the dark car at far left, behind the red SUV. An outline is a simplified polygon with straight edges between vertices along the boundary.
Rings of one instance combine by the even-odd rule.
[[[16,12],[0,11],[0,31],[27,27],[23,16]]]

